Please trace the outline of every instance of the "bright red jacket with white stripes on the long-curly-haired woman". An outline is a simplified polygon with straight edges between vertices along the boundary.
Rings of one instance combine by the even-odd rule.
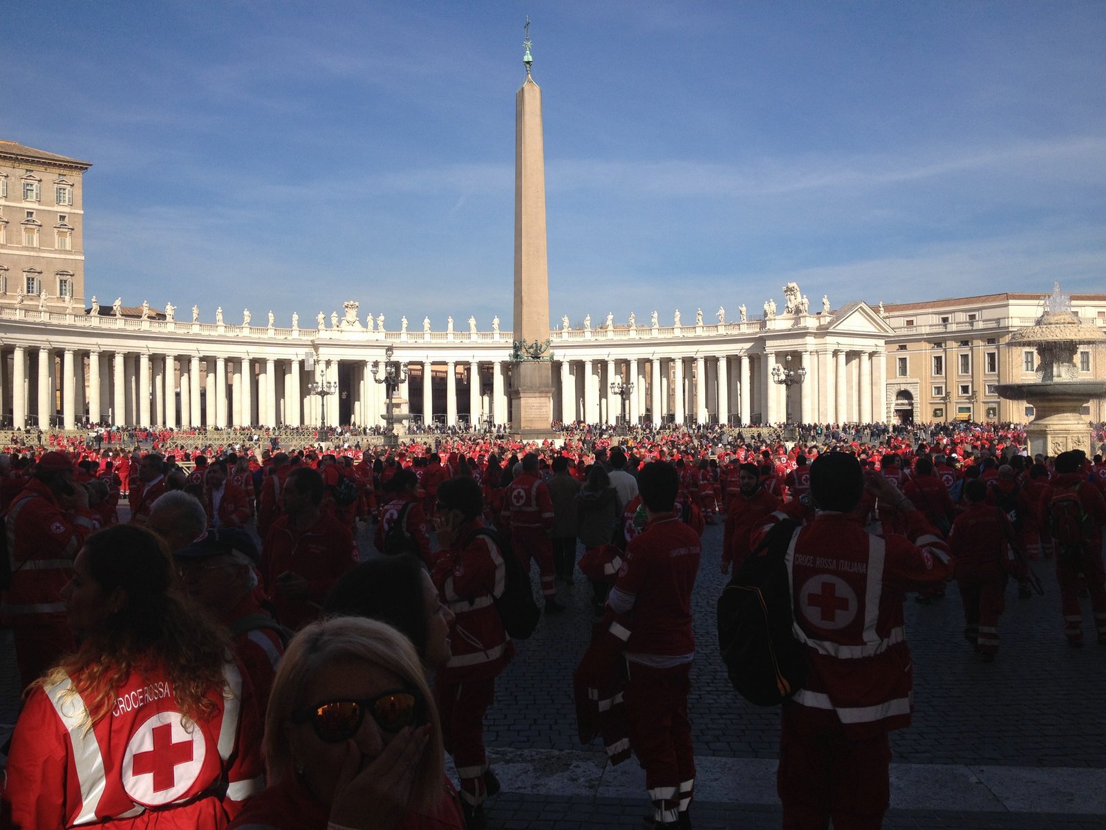
[[[218,714],[194,723],[180,714],[160,670],[135,670],[114,709],[90,732],[81,727],[81,675],[35,687],[8,756],[4,798],[13,827],[226,827],[261,790],[263,769],[253,689],[236,663],[223,665],[223,676],[232,696],[212,688],[207,696]]]

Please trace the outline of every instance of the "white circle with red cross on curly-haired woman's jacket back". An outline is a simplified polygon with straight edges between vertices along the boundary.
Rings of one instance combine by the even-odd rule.
[[[159,712],[143,723],[123,756],[123,789],[146,807],[176,801],[191,789],[204,767],[207,739],[195,724],[186,729],[177,712]]]

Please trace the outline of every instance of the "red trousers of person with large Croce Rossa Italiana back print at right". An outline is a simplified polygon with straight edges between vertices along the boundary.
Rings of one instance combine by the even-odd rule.
[[[780,716],[776,791],[783,830],[879,830],[890,806],[887,733],[851,738],[832,712],[795,703]]]

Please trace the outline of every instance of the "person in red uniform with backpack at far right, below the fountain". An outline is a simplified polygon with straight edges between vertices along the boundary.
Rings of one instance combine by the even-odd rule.
[[[1086,456],[1077,449],[1056,456],[1056,476],[1041,496],[1040,505],[1041,523],[1050,528],[1052,535],[1060,602],[1064,611],[1064,633],[1072,646],[1083,645],[1079,573],[1086,578],[1098,642],[1106,644],[1106,575],[1103,573],[1102,554],[1106,501],[1082,471],[1085,461]],[[1078,501],[1075,510],[1070,511],[1064,506],[1063,501],[1067,498]],[[1065,520],[1065,517],[1074,522]]]

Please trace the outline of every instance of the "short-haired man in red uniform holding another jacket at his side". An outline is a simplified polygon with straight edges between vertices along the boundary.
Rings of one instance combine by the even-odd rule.
[[[691,591],[699,571],[699,536],[674,510],[679,474],[647,464],[638,489],[648,521],[626,546],[607,606],[628,629],[624,698],[629,743],[645,770],[653,826],[690,827],[695,753],[687,698],[695,634]]]

